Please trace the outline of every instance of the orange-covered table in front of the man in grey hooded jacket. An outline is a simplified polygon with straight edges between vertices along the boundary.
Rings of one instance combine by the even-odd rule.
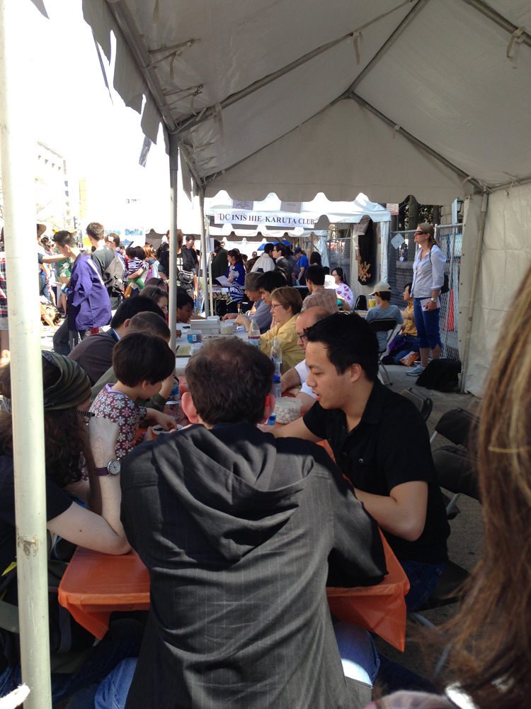
[[[403,650],[409,582],[387,542],[384,547],[389,574],[382,584],[327,588],[326,595],[340,620],[352,620]],[[115,557],[78,547],[59,584],[59,603],[101,640],[113,610],[149,609],[149,573],[136,552]]]

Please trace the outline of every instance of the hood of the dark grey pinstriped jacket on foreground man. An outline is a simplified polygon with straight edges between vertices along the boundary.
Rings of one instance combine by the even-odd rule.
[[[307,442],[290,439],[290,455],[279,454],[278,442],[253,425],[225,423],[154,444],[159,474],[227,561],[263,544],[297,510],[314,459]]]

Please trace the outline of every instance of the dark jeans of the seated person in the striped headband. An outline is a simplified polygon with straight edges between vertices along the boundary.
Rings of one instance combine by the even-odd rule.
[[[103,640],[91,657],[74,674],[52,674],[52,704],[72,695],[68,709],[88,709],[94,706],[94,696],[101,681],[126,657],[138,655],[144,626],[138,620],[122,618],[110,624]],[[8,666],[0,676],[0,696],[4,697],[22,683],[20,666]]]

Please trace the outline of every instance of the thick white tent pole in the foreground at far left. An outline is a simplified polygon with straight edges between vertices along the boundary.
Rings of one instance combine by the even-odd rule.
[[[23,13],[28,11],[25,3],[0,0],[0,153],[11,349],[18,618],[22,681],[30,688],[24,706],[51,709],[40,309],[37,279],[27,277],[28,258],[31,263],[36,254],[37,138],[32,130],[33,115],[20,93],[21,86],[28,89],[28,95],[35,89],[30,80],[33,52],[20,50],[19,31],[25,24]]]

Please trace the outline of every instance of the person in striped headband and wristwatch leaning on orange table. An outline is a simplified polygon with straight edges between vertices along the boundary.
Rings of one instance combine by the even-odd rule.
[[[55,352],[42,352],[42,384],[44,411],[41,410],[40,415],[44,416],[46,431],[47,530],[53,537],[57,535],[96,552],[127,554],[131,547],[120,521],[120,462],[115,457],[118,425],[89,415],[89,377],[72,359]],[[2,577],[4,603],[17,605],[17,529],[9,364],[0,369],[0,393],[4,396],[5,407],[0,412],[0,566],[1,571],[7,572]],[[83,479],[85,465],[89,469],[88,480]],[[79,497],[84,505],[76,503],[73,495]],[[56,550],[59,552],[59,547]],[[64,550],[62,547],[62,552]],[[56,561],[53,567],[56,572],[57,564],[59,562]],[[57,620],[52,604],[50,609],[51,618]],[[59,649],[64,652],[62,646],[70,640],[71,657],[75,659],[79,653],[96,644],[96,638],[77,625],[73,618],[62,617],[60,625],[62,630],[58,637],[55,621],[50,624],[52,653],[57,653]],[[65,632],[67,629],[69,639]],[[80,669],[73,674],[52,674],[54,705],[87,685],[97,686],[122,659],[136,657],[142,632],[142,624],[136,620],[111,623],[105,638],[94,647]],[[6,649],[9,647],[6,643],[10,642],[8,632],[1,629],[0,636]],[[0,653],[0,696],[5,696],[21,683],[20,659],[14,645],[11,642],[13,652],[9,659],[4,652]],[[57,660],[57,656],[52,657]]]

